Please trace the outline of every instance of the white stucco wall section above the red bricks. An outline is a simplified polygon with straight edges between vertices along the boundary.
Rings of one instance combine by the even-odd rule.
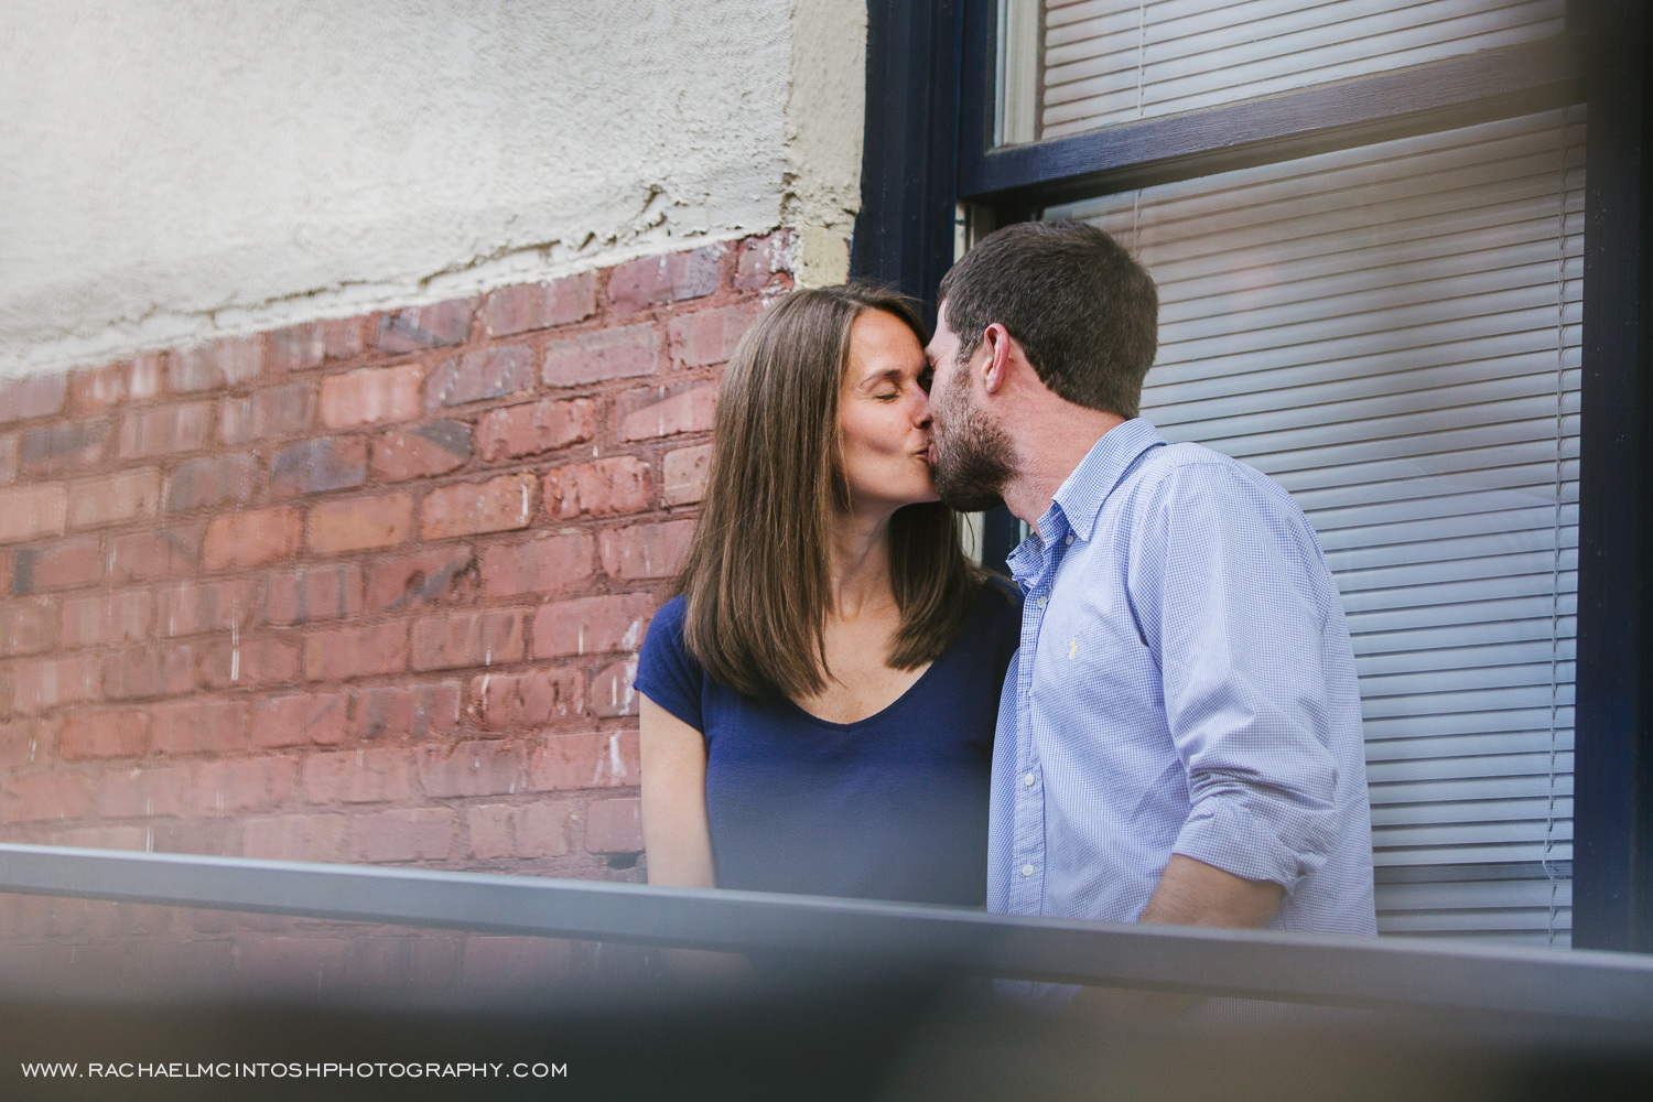
[[[798,230],[863,0],[8,0],[0,375]],[[797,48],[795,48],[797,43]]]

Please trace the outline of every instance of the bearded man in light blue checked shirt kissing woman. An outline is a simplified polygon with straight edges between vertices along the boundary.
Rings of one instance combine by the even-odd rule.
[[[1033,527],[988,910],[1375,933],[1337,587],[1284,489],[1137,418],[1154,281],[1101,230],[1020,223],[941,299],[936,486]]]

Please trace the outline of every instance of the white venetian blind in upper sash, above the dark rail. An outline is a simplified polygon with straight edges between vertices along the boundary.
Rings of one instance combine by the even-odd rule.
[[[1038,0],[1002,0],[1038,3]],[[1058,137],[1547,38],[1565,0],[1045,0],[1036,134]],[[1028,119],[1033,122],[1033,119]],[[1023,137],[1023,140],[1025,140]]]

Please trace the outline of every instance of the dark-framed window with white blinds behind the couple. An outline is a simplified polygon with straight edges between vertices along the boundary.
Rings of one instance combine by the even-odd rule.
[[[1646,5],[906,7],[855,269],[931,296],[955,221],[1134,248],[1146,415],[1281,481],[1342,587],[1380,927],[1653,947]]]

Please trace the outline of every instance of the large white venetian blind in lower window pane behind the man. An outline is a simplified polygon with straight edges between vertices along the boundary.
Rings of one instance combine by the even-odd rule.
[[[1144,416],[1291,491],[1360,672],[1379,929],[1570,940],[1582,109],[1111,195]]]

